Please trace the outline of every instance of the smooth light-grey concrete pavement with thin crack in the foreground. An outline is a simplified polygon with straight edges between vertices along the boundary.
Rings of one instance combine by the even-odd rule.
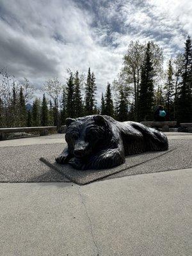
[[[1,256],[189,256],[191,169],[1,184]]]

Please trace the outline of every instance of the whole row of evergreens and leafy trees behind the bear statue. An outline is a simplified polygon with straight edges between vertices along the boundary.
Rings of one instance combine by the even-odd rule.
[[[43,98],[34,99],[35,88],[27,78],[18,83],[1,70],[0,127],[60,127],[65,118],[84,115],[109,115],[116,120],[153,120],[158,105],[163,105],[167,120],[192,122],[192,45],[188,36],[184,51],[168,61],[163,70],[163,51],[158,44],[131,42],[122,68],[97,102],[95,74],[68,70],[67,83],[58,78],[45,81]],[[33,100],[28,109],[29,100]]]

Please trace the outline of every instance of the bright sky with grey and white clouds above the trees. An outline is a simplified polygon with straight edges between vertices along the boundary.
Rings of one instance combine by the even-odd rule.
[[[91,67],[101,92],[130,40],[155,40],[166,58],[182,49],[191,13],[189,0],[0,0],[0,67],[38,88]]]

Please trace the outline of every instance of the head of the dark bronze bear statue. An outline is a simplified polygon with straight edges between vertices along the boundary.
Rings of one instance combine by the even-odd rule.
[[[68,150],[81,158],[95,154],[110,140],[110,128],[102,115],[67,118],[65,140]]]

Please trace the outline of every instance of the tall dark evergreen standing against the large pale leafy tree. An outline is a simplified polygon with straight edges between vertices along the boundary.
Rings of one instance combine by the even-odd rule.
[[[154,68],[152,66],[150,42],[147,44],[145,60],[141,70],[139,95],[139,120],[152,120],[154,103]]]

